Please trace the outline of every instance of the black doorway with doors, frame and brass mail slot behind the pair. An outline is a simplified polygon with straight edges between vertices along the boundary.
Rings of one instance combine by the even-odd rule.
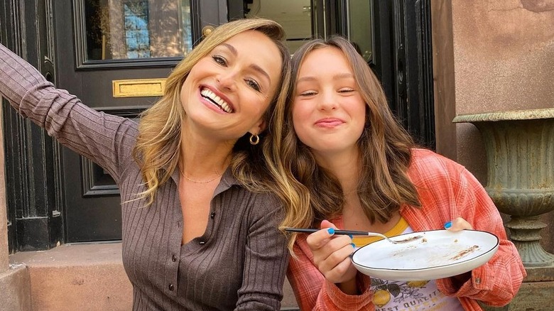
[[[430,0],[1,1],[0,40],[89,107],[134,118],[205,27],[255,16],[283,25],[291,53],[311,38],[349,38],[406,129],[434,147]],[[114,180],[4,111],[11,251],[121,239]]]

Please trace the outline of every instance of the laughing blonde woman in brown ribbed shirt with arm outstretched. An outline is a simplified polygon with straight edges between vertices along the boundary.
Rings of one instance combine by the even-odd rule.
[[[279,309],[288,251],[261,136],[290,80],[282,39],[264,19],[220,26],[139,125],[89,109],[0,47],[1,94],[119,185],[134,310]]]

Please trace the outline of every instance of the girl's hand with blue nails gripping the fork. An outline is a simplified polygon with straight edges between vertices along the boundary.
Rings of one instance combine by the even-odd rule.
[[[319,271],[327,280],[337,283],[344,293],[352,295],[357,291],[357,270],[350,261],[354,244],[349,236],[335,236],[335,229],[337,227],[334,224],[324,220],[321,222],[321,230],[310,234],[306,241],[312,250],[313,261]],[[352,291],[354,293],[350,293]]]

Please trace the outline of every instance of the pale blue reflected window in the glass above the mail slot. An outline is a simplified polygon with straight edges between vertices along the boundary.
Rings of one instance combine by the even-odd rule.
[[[148,2],[127,2],[123,13],[127,58],[149,58]]]

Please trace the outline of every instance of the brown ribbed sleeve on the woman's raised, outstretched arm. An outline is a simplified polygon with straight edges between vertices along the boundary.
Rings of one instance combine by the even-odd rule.
[[[119,163],[129,158],[134,145],[134,121],[95,111],[67,91],[56,89],[4,45],[0,45],[0,94],[21,116],[119,180]]]

